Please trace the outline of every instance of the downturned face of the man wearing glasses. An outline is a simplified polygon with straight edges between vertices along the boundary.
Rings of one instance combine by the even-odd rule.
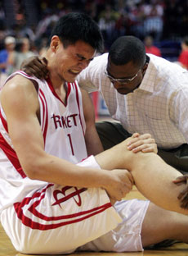
[[[129,94],[141,84],[147,66],[138,67],[133,62],[117,66],[109,58],[105,74],[119,94]]]

